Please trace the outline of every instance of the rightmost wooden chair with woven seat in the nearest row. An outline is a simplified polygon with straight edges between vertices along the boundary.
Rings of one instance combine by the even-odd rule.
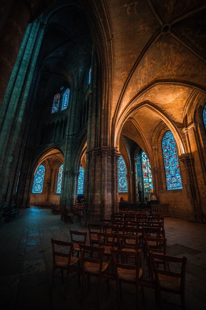
[[[181,308],[185,310],[185,270],[187,258],[185,256],[183,256],[183,258],[179,258],[168,255],[155,254],[152,253],[152,251],[149,252],[149,255],[152,267],[151,275],[157,285],[160,310],[162,310],[161,291],[179,294],[181,297]],[[169,270],[158,269],[156,267],[155,259],[162,260],[165,263],[182,263],[181,272],[172,272]]]

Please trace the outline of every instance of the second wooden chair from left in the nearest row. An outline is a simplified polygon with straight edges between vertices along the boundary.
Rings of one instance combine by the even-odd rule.
[[[87,275],[88,286],[90,287],[90,276],[98,277],[98,294],[97,294],[97,306],[96,309],[99,310],[100,301],[100,287],[102,279],[104,279],[105,273],[108,272],[109,262],[103,262],[104,257],[104,247],[96,246],[86,246],[79,244],[81,261],[82,261],[82,298],[81,304],[84,300],[84,290],[85,290],[85,276]],[[88,258],[85,256],[85,252],[96,252],[98,254],[98,259]],[[109,279],[107,279],[107,290],[109,291]]]

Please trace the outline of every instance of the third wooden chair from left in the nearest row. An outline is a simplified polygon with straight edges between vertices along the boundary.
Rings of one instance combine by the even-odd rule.
[[[116,285],[117,285],[117,296],[118,296],[118,309],[120,309],[120,297],[122,296],[121,283],[133,284],[136,286],[136,307],[139,309],[139,282],[142,279],[142,269],[140,268],[140,256],[141,252],[130,252],[111,249],[112,260],[116,270]],[[119,258],[121,257],[121,263]],[[124,264],[124,257],[135,257],[135,264],[128,265]],[[144,288],[142,287],[142,297],[144,298]]]

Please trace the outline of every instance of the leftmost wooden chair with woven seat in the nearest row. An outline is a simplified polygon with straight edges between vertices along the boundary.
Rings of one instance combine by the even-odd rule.
[[[67,286],[68,286],[70,272],[78,273],[78,282],[79,282],[79,285],[81,285],[80,259],[72,256],[73,255],[73,242],[58,241],[58,240],[54,240],[53,238],[51,239],[51,241],[52,241],[52,252],[53,252],[53,271],[52,271],[52,283],[51,283],[50,296],[52,298],[55,277],[58,277],[59,273],[61,272],[61,279],[63,282],[64,281],[64,270],[66,270],[65,291],[64,291],[64,299],[66,299]],[[55,245],[65,247],[66,252],[62,253],[62,252],[55,251]],[[67,250],[68,247],[69,247],[69,250]],[[56,256],[58,258],[56,258]],[[78,263],[77,267],[74,266],[76,263]],[[55,274],[56,269],[60,269],[60,271],[57,274]]]

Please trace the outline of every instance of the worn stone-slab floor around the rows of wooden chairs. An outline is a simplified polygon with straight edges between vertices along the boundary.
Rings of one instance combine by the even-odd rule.
[[[67,300],[63,301],[64,285],[55,280],[52,302],[49,286],[52,272],[51,237],[70,240],[69,229],[85,231],[79,223],[65,224],[60,215],[51,210],[20,210],[10,223],[0,224],[0,307],[1,309],[95,309],[96,284],[91,278],[91,288],[86,285],[86,300],[80,305],[81,288],[76,279],[69,282]],[[193,224],[175,218],[165,219],[167,253],[187,257],[186,304],[188,310],[206,309],[206,225]],[[179,266],[172,266],[179,270]],[[148,275],[143,260],[143,273]],[[116,283],[111,281],[107,294],[106,283],[101,290],[100,309],[116,310]],[[123,285],[121,308],[136,309],[134,287]],[[164,309],[179,309],[180,297],[163,293]],[[141,309],[156,309],[153,290],[145,289],[145,302]]]

